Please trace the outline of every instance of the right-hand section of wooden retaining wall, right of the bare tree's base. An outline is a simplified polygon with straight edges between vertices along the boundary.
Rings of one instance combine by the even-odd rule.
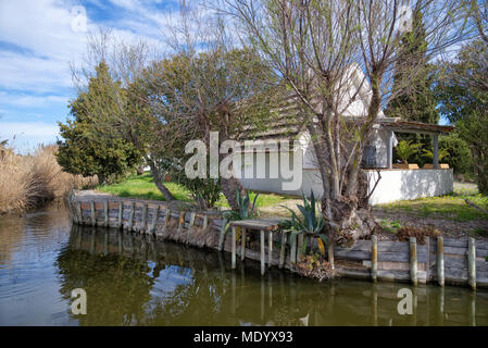
[[[377,241],[376,262],[372,240],[359,240],[351,248],[337,247],[334,254],[337,260],[356,263],[355,268],[340,270],[346,275],[373,278],[376,263],[378,279],[415,283],[416,278],[418,283],[436,282],[440,286],[488,287],[488,241],[445,237],[426,237],[425,240],[425,245],[420,245],[415,238],[410,241]],[[411,254],[412,249],[416,249],[415,258]],[[415,276],[413,268],[416,269]]]

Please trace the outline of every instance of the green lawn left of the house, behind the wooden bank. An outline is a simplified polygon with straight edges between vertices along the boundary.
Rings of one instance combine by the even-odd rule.
[[[165,183],[165,185],[177,200],[187,202],[192,201],[190,192],[182,185],[175,183]],[[133,175],[120,184],[98,186],[97,190],[118,197],[164,200],[163,195],[155,187],[154,181],[149,173],[145,173],[140,176]],[[291,197],[283,195],[260,194],[258,201],[260,207],[271,207],[281,204],[290,198]],[[254,199],[254,194],[251,194],[251,199]],[[228,203],[224,195],[221,195],[221,199],[216,206],[228,208]]]

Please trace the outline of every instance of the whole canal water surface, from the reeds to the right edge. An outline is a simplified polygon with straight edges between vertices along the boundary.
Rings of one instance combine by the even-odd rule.
[[[398,312],[403,288],[412,314]],[[261,277],[248,260],[233,272],[227,254],[73,226],[54,204],[0,216],[0,325],[488,325],[488,291]]]

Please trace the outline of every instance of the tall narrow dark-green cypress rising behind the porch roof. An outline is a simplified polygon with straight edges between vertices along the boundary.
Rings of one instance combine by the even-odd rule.
[[[393,77],[393,98],[388,103],[386,114],[405,121],[437,124],[439,113],[433,90],[435,69],[428,63],[422,12],[414,13],[412,27],[413,29],[405,33],[401,39],[401,50]],[[405,82],[408,82],[406,85]],[[428,135],[400,133],[397,136],[399,139],[422,144],[424,150],[431,150],[431,139]],[[412,161],[423,164],[421,153],[422,151],[418,151]]]

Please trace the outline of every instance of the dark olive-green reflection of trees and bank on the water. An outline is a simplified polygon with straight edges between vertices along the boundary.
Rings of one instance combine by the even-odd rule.
[[[82,287],[82,325],[487,325],[488,294],[411,288],[413,314],[397,312],[409,285],[355,281],[318,284],[226,254],[118,231],[75,226],[57,260],[70,301]]]

